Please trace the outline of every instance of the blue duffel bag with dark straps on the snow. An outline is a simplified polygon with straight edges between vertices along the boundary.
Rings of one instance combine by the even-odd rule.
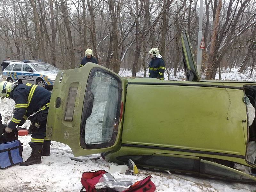
[[[23,162],[23,146],[19,140],[0,144],[0,168]]]

